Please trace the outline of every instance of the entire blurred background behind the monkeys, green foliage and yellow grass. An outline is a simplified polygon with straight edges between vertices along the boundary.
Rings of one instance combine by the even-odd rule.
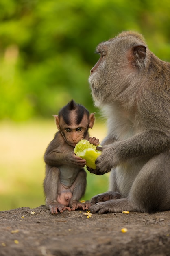
[[[98,43],[124,30],[142,33],[170,61],[169,0],[0,1],[0,210],[44,204],[43,154],[56,127],[52,114],[74,99],[96,112],[89,71]],[[109,174],[88,173],[84,199],[107,190]]]

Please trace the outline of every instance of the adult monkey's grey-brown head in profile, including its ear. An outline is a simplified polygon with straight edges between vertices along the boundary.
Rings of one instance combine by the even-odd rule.
[[[122,33],[98,45],[100,58],[89,76],[96,106],[119,100],[131,82],[138,79],[146,51],[143,43],[134,35]]]

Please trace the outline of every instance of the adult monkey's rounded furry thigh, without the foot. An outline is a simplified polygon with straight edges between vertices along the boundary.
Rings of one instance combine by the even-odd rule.
[[[170,210],[170,150],[156,155],[143,166],[129,198],[142,212]]]

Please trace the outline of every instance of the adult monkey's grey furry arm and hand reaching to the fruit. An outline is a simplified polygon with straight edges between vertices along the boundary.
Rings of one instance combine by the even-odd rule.
[[[168,149],[170,136],[157,130],[147,130],[130,139],[100,148],[102,154],[96,160],[96,170],[93,170],[93,173],[102,175],[129,158],[152,157]]]

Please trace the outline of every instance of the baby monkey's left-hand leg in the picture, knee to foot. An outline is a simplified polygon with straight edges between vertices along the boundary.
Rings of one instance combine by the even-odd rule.
[[[59,180],[60,171],[57,167],[46,167],[46,177],[44,179],[44,193],[46,195],[46,208],[50,209],[51,213],[58,213],[65,211],[71,211],[70,207],[64,206],[57,202],[57,195],[60,193],[61,184]]]

